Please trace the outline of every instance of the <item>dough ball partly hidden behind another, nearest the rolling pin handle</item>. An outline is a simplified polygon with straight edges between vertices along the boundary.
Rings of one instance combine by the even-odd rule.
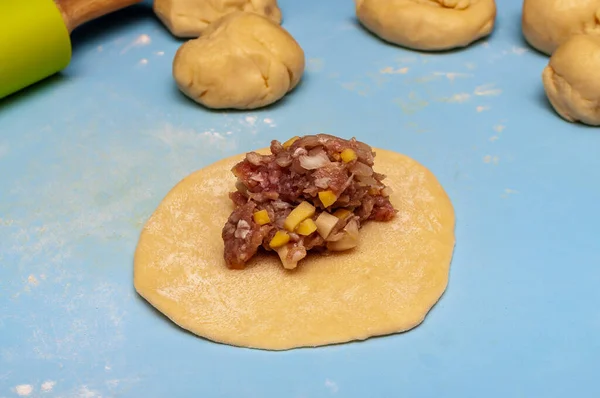
[[[277,0],[154,0],[154,12],[177,37],[199,37],[212,22],[234,11],[254,12],[281,23]]]

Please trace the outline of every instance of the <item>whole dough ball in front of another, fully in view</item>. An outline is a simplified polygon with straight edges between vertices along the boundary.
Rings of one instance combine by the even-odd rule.
[[[296,87],[304,63],[304,51],[281,26],[238,11],[177,50],[173,77],[183,93],[206,107],[254,109]]]

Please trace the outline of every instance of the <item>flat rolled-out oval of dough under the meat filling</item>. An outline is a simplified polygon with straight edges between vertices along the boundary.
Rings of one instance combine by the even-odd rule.
[[[229,270],[221,229],[233,206],[231,167],[219,161],[183,179],[146,223],[135,252],[135,288],[184,329],[236,346],[283,350],[363,340],[421,323],[448,282],[454,210],[416,161],[376,149],[395,220],[370,222],[360,246],[309,255],[286,271],[277,255]],[[268,153],[263,150],[262,153]]]

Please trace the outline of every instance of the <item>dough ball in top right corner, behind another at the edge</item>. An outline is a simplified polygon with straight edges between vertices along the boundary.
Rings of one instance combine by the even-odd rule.
[[[600,0],[525,0],[521,25],[527,42],[550,55],[575,34],[600,34]]]

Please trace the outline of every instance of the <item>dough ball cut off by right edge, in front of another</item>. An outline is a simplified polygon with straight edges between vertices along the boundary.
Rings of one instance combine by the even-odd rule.
[[[600,126],[600,36],[576,35],[552,54],[542,79],[552,106],[570,122]]]

